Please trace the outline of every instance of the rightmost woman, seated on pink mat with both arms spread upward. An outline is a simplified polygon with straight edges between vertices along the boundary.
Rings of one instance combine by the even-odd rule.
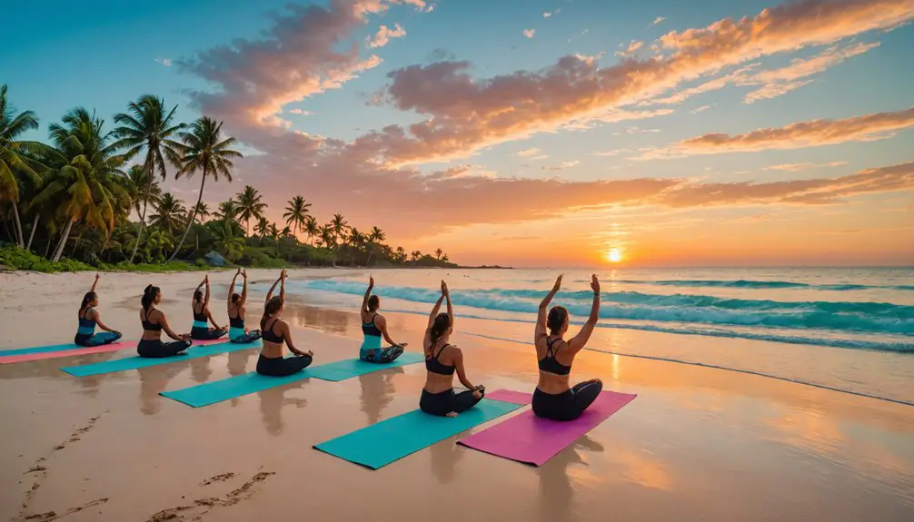
[[[563,339],[569,329],[569,312],[563,307],[552,307],[548,317],[546,308],[549,301],[561,287],[562,277],[539,304],[537,329],[534,333],[534,344],[537,346],[539,360],[539,383],[533,392],[533,412],[539,417],[554,421],[573,421],[596,400],[603,390],[599,379],[579,382],[569,387],[569,373],[575,355],[584,348],[593,327],[600,318],[600,281],[597,276],[590,277],[590,288],[593,289],[593,305],[590,317],[578,332],[578,335],[566,341]],[[548,329],[548,332],[547,332]]]

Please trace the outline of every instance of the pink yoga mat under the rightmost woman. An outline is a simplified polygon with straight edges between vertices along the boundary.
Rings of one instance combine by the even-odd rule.
[[[525,464],[543,465],[569,444],[632,402],[637,395],[603,391],[579,418],[569,422],[541,419],[532,411],[474,433],[457,444]]]

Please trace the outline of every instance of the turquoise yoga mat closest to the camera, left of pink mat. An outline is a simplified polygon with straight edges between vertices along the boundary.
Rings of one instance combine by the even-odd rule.
[[[378,469],[521,407],[512,402],[483,399],[456,417],[436,417],[415,410],[317,444],[314,449]]]

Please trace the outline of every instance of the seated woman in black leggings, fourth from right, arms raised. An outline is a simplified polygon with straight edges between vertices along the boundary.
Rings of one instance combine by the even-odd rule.
[[[285,308],[285,270],[280,278],[270,287],[267,301],[263,306],[263,318],[260,319],[260,339],[263,339],[263,350],[257,360],[257,372],[260,375],[271,377],[284,377],[298,371],[303,371],[314,360],[314,352],[302,351],[295,348],[292,342],[292,331],[289,325],[282,320],[282,310]],[[273,290],[280,285],[280,295],[273,297]],[[282,357],[282,342],[289,345],[289,351],[294,357]]]

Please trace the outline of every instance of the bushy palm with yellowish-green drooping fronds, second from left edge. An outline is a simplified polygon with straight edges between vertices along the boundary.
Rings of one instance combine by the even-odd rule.
[[[48,162],[54,165],[48,182],[38,193],[36,204],[54,198],[62,217],[67,219],[52,259],[58,261],[67,244],[74,223],[85,221],[90,228],[104,231],[107,236],[114,228],[114,217],[124,204],[129,204],[125,186],[127,174],[120,171],[122,155],[102,133],[103,120],[84,108],[69,110],[61,120],[63,125],[49,128],[55,149],[48,151]],[[129,206],[127,206],[129,208]]]

